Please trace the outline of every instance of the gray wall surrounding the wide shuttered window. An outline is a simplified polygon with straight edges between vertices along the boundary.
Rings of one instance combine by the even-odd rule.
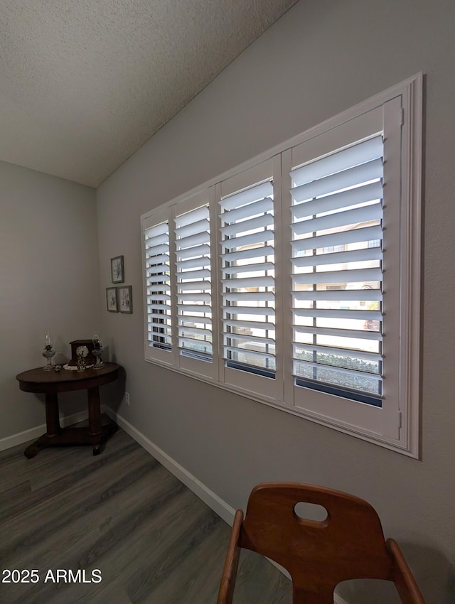
[[[233,507],[298,480],[369,500],[427,603],[455,598],[453,0],[301,0],[97,191],[101,285],[124,254],[134,314],[104,313],[127,371],[119,412]],[[423,70],[426,78],[422,460],[144,361],[142,213]],[[351,598],[353,587],[343,593]],[[372,603],[373,592],[365,601]],[[385,600],[392,601],[392,600]]]

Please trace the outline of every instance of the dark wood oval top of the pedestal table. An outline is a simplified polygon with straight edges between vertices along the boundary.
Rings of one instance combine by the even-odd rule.
[[[102,369],[83,371],[66,370],[44,371],[36,367],[16,375],[19,388],[25,392],[70,392],[102,386],[114,382],[118,377],[120,365],[105,362]]]

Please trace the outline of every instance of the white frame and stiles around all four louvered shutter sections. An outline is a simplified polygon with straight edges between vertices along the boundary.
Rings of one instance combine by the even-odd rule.
[[[170,202],[157,207],[141,216],[142,232],[144,224],[150,225],[155,216],[168,215],[173,221],[176,212],[182,213],[181,207],[195,207],[194,200],[205,195],[209,200],[210,210],[210,245],[212,250],[212,305],[213,305],[213,362],[189,359],[181,362],[178,354],[177,340],[173,344],[171,355],[150,355],[147,346],[147,306],[145,279],[145,252],[143,252],[144,274],[144,327],[145,327],[145,360],[164,366],[170,370],[187,374],[195,379],[209,382],[230,392],[241,394],[263,404],[281,409],[287,413],[309,419],[338,431],[375,443],[393,451],[398,451],[413,458],[419,458],[419,370],[420,370],[420,279],[421,279],[421,239],[422,239],[422,89],[423,75],[419,73],[404,82],[375,95],[365,102],[326,120],[323,124],[314,126],[308,131],[294,136],[292,139],[261,153],[250,161],[222,175],[208,180],[203,185],[191,190]],[[311,404],[296,404],[294,400],[294,383],[291,376],[292,353],[289,343],[292,342],[291,321],[284,321],[289,311],[289,292],[291,291],[291,271],[289,269],[289,208],[284,202],[289,187],[287,186],[287,167],[291,150],[301,144],[311,141],[318,148],[323,143],[324,135],[333,129],[339,131],[353,130],[356,122],[361,124],[363,116],[382,107],[387,112],[387,102],[400,98],[401,109],[393,117],[387,119],[400,120],[401,136],[401,201],[400,201],[400,230],[395,237],[400,239],[400,313],[397,325],[400,325],[397,335],[398,366],[400,370],[397,380],[400,382],[400,396],[397,401],[385,399],[382,409],[338,397],[327,392],[311,389]],[[365,118],[366,119],[366,118]],[[360,128],[361,130],[361,128]],[[355,136],[355,134],[352,134]],[[386,136],[386,135],[385,135]],[[335,149],[333,149],[335,150]],[[321,153],[323,154],[323,153]],[[255,184],[264,178],[263,164],[271,162],[274,178],[274,220],[275,220],[275,303],[276,303],[276,374],[275,379],[262,375],[251,374],[242,370],[227,367],[220,354],[223,347],[223,297],[220,286],[222,278],[220,262],[220,217],[218,200],[222,195],[223,182],[240,183],[237,190]],[[281,183],[276,178],[277,170],[281,173]],[[250,175],[250,176],[248,176]],[[247,184],[245,184],[247,183]],[[226,189],[225,189],[226,190]],[[225,193],[223,193],[225,196]],[[282,203],[283,201],[283,203]],[[173,225],[173,222],[172,222]],[[216,227],[215,227],[216,225]],[[392,225],[390,225],[392,228]],[[171,227],[170,227],[171,230]],[[144,246],[143,246],[144,249]],[[174,258],[175,243],[170,244],[171,257]],[[173,260],[171,261],[173,266]],[[385,267],[389,270],[389,267]],[[392,269],[392,267],[390,267]],[[172,304],[176,305],[176,271],[171,278]],[[395,299],[397,299],[395,297]],[[176,315],[172,314],[173,338],[176,338]],[[159,351],[161,353],[161,351]],[[163,358],[161,358],[163,357]],[[187,359],[188,357],[184,357]],[[193,362],[194,361],[194,362]],[[394,362],[397,360],[395,359]],[[391,362],[391,361],[390,361]],[[205,365],[206,367],[204,367]],[[208,371],[208,365],[211,370]],[[271,387],[271,383],[274,387]],[[292,394],[291,394],[292,392]],[[343,407],[343,414],[333,411]]]

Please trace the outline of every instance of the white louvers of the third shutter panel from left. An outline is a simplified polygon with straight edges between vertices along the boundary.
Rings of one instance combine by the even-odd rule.
[[[270,181],[220,200],[223,357],[274,377],[274,214]]]

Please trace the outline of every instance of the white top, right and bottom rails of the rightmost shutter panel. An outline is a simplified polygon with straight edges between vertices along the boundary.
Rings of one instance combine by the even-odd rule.
[[[283,189],[290,188],[288,173],[294,166],[310,162],[319,156],[325,156],[329,150],[344,148],[353,142],[353,139],[362,140],[368,136],[374,136],[378,131],[383,131],[385,139],[384,151],[390,149],[388,157],[397,156],[401,159],[401,122],[402,95],[387,99],[383,104],[353,117],[350,122],[343,122],[327,129],[314,139],[307,139],[298,146],[284,151],[283,153]],[[385,156],[385,168],[389,168],[389,177],[385,173],[386,183],[384,185],[384,232],[387,236],[385,247],[390,247],[389,255],[383,255],[382,273],[385,274],[385,295],[383,296],[383,314],[387,316],[386,333],[382,338],[384,347],[383,355],[387,358],[385,379],[382,382],[387,389],[386,396],[382,399],[382,407],[373,404],[358,404],[350,397],[343,397],[336,392],[336,387],[323,382],[319,387],[311,388],[309,385],[296,384],[292,378],[291,368],[285,372],[286,394],[285,400],[290,405],[298,406],[305,414],[321,419],[322,423],[334,422],[338,426],[344,426],[348,431],[358,431],[372,438],[378,438],[382,442],[388,442],[392,446],[400,447],[406,442],[406,428],[402,425],[400,408],[402,403],[400,397],[400,382],[402,369],[406,365],[406,355],[400,354],[398,347],[399,338],[392,338],[391,333],[400,333],[400,308],[406,308],[408,292],[404,282],[400,278],[403,269],[400,263],[395,261],[396,257],[402,257],[406,244],[402,236],[400,225],[400,205],[389,201],[390,199],[402,199],[406,195],[405,184],[401,180],[402,166],[397,169],[397,162],[390,162]],[[401,188],[401,190],[400,190]],[[387,207],[388,203],[388,207]],[[390,218],[392,214],[392,218]],[[290,216],[287,222],[290,222]],[[395,233],[394,233],[395,231]],[[392,235],[390,236],[390,233]],[[390,242],[390,243],[387,243]],[[392,261],[390,261],[392,257]],[[387,266],[385,266],[387,264]],[[397,266],[400,264],[400,266]],[[284,271],[284,268],[283,268]],[[388,293],[387,293],[388,292]],[[392,302],[391,302],[392,298]],[[401,301],[401,303],[400,303]],[[289,306],[288,315],[292,308]],[[407,351],[406,351],[407,352]],[[394,368],[393,372],[388,369]],[[398,368],[398,369],[397,369]],[[322,387],[320,387],[322,385]],[[393,404],[393,401],[397,401]]]

